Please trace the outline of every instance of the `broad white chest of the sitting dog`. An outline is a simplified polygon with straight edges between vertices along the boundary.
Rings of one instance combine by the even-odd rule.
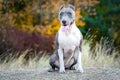
[[[63,49],[74,49],[76,46],[79,45],[80,36],[73,32],[73,33],[60,33],[58,37],[59,46]]]

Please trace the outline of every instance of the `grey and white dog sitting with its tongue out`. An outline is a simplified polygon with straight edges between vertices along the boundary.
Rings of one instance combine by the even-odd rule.
[[[61,27],[56,34],[56,50],[50,57],[51,68],[49,72],[59,69],[64,73],[65,69],[72,69],[77,64],[76,71],[83,72],[81,66],[81,45],[83,36],[75,24],[75,8],[61,6],[59,9]]]

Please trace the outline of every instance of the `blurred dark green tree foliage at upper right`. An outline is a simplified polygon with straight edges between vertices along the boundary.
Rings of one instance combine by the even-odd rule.
[[[115,40],[115,45],[120,47],[120,0],[100,0],[100,3],[89,7],[91,10],[82,10],[86,22],[86,30],[90,34],[96,32],[96,40],[108,37]],[[120,48],[119,48],[120,50]]]

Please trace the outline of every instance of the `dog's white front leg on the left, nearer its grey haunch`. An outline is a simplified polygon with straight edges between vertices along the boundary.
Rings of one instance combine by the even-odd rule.
[[[58,56],[59,56],[59,64],[60,64],[60,73],[65,73],[65,67],[64,67],[64,60],[63,60],[63,50],[58,49]]]

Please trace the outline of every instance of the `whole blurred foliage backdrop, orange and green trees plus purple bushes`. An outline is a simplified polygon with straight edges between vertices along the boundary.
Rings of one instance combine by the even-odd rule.
[[[108,2],[111,5],[115,4],[112,9],[111,5],[107,4]],[[118,3],[119,0],[118,2],[109,0],[0,0],[0,54],[9,49],[16,51],[32,49],[52,53],[55,48],[55,34],[60,28],[58,11],[63,4],[75,6],[76,25],[84,36],[96,35],[93,39],[94,45],[100,42],[101,37],[108,37],[115,40],[115,46],[119,50],[120,30],[118,27],[120,25],[119,18],[114,15],[119,12]]]

